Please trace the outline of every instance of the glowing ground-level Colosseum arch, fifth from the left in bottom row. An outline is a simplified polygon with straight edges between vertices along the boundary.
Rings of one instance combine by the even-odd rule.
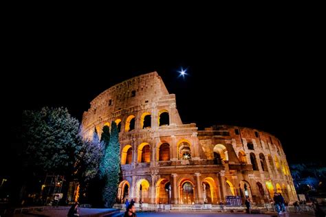
[[[217,203],[217,187],[212,177],[206,177],[202,181],[202,196],[204,203]]]

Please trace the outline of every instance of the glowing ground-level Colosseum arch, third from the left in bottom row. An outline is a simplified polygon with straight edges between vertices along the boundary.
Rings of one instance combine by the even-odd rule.
[[[159,179],[155,185],[156,203],[171,203],[171,183],[168,179]]]

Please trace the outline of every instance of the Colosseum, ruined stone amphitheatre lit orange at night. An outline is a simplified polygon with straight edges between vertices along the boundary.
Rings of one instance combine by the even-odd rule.
[[[110,87],[83,114],[84,137],[118,124],[122,181],[117,200],[143,205],[296,201],[279,139],[261,130],[182,124],[175,95],[157,72]],[[239,204],[238,204],[239,205]]]

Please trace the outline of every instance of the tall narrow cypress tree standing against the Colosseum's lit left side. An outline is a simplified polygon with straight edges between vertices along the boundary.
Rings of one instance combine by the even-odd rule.
[[[100,174],[105,183],[102,194],[103,202],[105,207],[112,207],[116,202],[120,177],[120,144],[116,122],[111,124],[111,137],[105,149],[105,157],[100,170],[102,170]]]

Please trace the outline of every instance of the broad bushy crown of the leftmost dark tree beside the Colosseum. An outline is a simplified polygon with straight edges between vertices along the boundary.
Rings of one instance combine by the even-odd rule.
[[[25,163],[34,172],[71,175],[82,146],[78,143],[78,120],[66,108],[23,112]]]

